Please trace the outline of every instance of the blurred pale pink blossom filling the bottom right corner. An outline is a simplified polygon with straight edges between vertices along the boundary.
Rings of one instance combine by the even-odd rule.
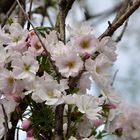
[[[122,131],[122,135],[118,139],[140,139],[139,105],[131,105],[130,103],[122,102],[117,109],[111,110],[109,121],[108,130],[110,132],[113,132],[116,129]]]

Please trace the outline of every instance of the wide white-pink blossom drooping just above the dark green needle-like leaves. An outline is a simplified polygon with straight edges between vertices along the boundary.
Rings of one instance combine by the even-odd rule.
[[[61,104],[63,102],[62,93],[68,89],[67,80],[60,80],[60,84],[47,73],[43,77],[38,77],[32,82],[32,87],[25,94],[32,93],[32,98],[36,102],[46,102],[47,105]],[[31,88],[31,90],[29,89]]]

